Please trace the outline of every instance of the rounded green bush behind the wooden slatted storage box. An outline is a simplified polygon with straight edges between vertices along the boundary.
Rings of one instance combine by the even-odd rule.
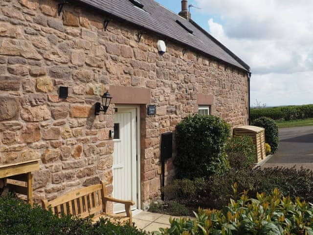
[[[252,125],[265,128],[265,141],[270,145],[271,154],[274,154],[279,145],[278,126],[275,121],[263,117],[255,119]]]

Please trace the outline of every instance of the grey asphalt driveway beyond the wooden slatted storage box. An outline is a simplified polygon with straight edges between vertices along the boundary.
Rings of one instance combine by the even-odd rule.
[[[282,128],[279,148],[262,167],[301,166],[313,170],[313,126]]]

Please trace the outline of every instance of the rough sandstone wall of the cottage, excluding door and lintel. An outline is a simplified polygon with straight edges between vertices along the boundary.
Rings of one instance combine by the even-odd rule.
[[[110,85],[151,89],[156,116],[141,105],[141,200],[160,195],[159,142],[181,118],[198,111],[197,94],[213,94],[212,114],[247,123],[247,75],[212,59],[111,21],[88,7],[55,0],[0,0],[0,164],[41,159],[35,198],[53,199],[106,180],[112,192],[114,105],[95,117]],[[67,99],[58,96],[69,87]],[[122,94],[121,94],[122,95]],[[173,175],[171,161],[167,176]]]

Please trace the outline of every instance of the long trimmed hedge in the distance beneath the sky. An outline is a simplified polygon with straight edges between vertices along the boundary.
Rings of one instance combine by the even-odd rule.
[[[261,117],[285,121],[313,118],[313,104],[262,108],[262,109],[255,108],[250,110],[251,121]]]

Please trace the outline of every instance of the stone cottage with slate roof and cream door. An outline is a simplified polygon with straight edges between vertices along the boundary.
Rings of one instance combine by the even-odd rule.
[[[249,67],[182,7],[179,16],[154,0],[0,0],[0,164],[40,159],[35,199],[105,180],[146,209],[160,195],[161,133],[198,112],[247,124]],[[95,116],[106,91],[111,105]],[[170,159],[165,176],[174,171]]]

